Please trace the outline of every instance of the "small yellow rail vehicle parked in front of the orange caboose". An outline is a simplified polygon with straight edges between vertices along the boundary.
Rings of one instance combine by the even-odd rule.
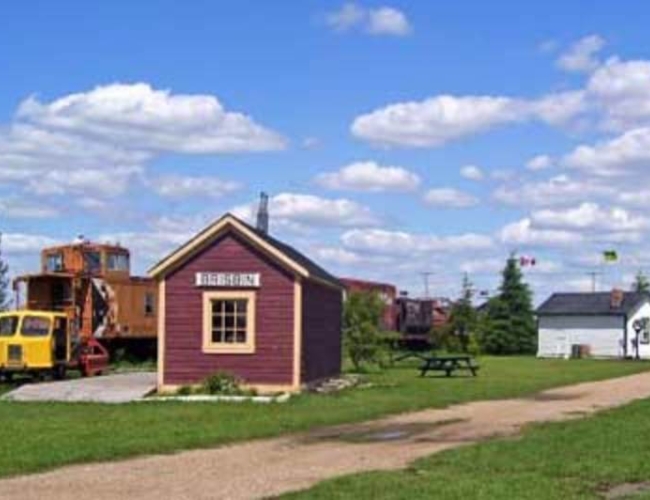
[[[108,355],[98,342],[80,342],[65,313],[0,313],[0,375],[6,379],[15,373],[52,374],[60,379],[69,368],[91,375],[107,363]]]

